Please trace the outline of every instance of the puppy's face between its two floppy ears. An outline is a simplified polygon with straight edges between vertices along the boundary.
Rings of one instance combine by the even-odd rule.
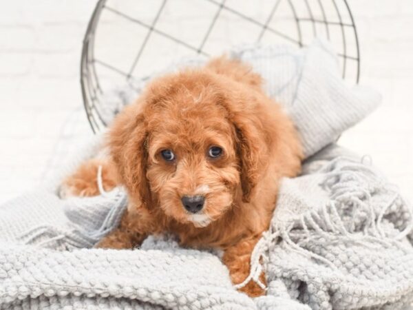
[[[205,227],[240,184],[234,127],[211,89],[171,94],[149,119],[147,178],[167,216]]]

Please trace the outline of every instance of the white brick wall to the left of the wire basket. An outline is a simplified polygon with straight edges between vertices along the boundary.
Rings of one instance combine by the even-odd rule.
[[[0,202],[41,180],[81,107],[81,42],[95,3],[0,1]]]

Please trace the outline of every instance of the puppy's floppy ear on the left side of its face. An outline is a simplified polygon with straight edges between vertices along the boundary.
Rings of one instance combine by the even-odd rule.
[[[132,103],[116,116],[109,131],[109,149],[120,182],[129,194],[139,196],[146,207],[151,205],[147,180],[147,130],[138,104]]]

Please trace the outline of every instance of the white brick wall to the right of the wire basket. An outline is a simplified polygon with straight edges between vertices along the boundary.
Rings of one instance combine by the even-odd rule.
[[[341,138],[370,154],[413,200],[413,1],[349,0],[361,43],[361,83],[376,87],[383,104]]]

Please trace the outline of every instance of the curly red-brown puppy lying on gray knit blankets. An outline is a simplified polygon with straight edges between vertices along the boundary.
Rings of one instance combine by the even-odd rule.
[[[225,57],[153,81],[116,116],[107,147],[108,158],[84,163],[63,184],[68,194],[96,195],[101,165],[106,190],[127,189],[120,226],[97,246],[130,249],[168,232],[184,246],[222,249],[234,284],[249,274],[280,178],[296,176],[303,157],[260,76]],[[241,291],[263,293],[252,280]]]

